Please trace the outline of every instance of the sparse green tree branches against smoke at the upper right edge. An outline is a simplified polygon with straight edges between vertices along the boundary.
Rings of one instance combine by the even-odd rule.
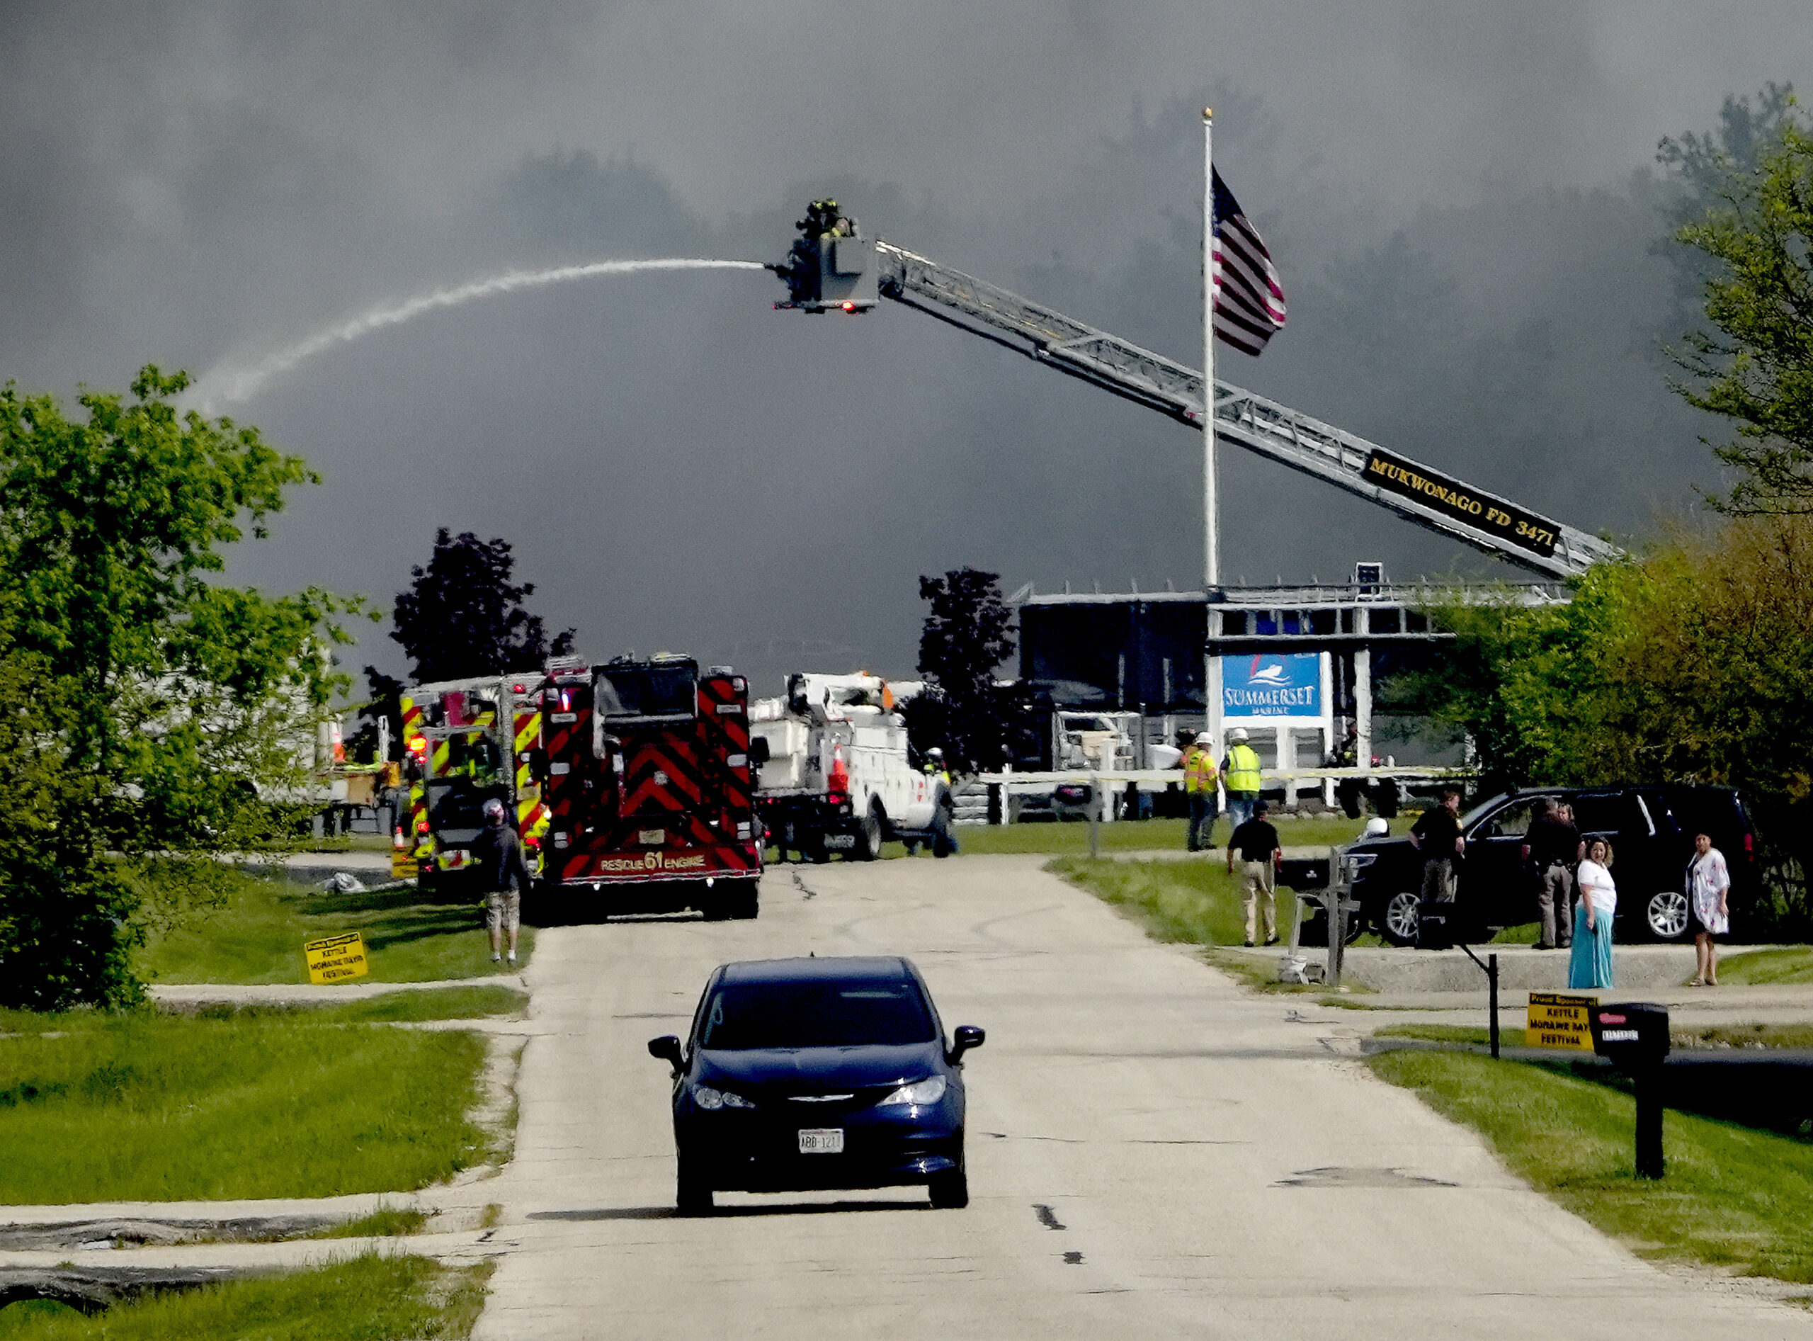
[[[1737,472],[1715,503],[1813,512],[1813,132],[1784,85],[1755,113],[1726,102],[1721,138],[1663,142],[1699,212],[1675,238],[1701,258],[1706,325],[1670,350],[1686,401],[1733,423],[1710,443]],[[1710,439],[1708,439],[1710,441]]]

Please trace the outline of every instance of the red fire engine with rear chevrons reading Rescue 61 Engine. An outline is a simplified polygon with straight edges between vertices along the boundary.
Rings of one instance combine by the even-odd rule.
[[[542,686],[542,887],[575,915],[752,918],[749,682],[687,657],[557,661]]]

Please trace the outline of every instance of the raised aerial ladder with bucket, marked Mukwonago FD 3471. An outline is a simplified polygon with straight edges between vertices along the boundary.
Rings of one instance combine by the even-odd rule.
[[[1202,432],[1202,374],[1006,289],[863,238],[836,201],[812,201],[787,259],[778,308],[867,312],[881,298],[992,339]],[[1423,466],[1264,396],[1215,381],[1215,434],[1343,488],[1498,559],[1568,579],[1623,555],[1615,544]]]

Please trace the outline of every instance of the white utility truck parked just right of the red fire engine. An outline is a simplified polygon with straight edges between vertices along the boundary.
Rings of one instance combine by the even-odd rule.
[[[897,711],[921,688],[796,673],[785,695],[751,704],[756,804],[781,860],[798,851],[823,862],[841,851],[872,862],[890,838],[908,851],[925,844],[934,856],[955,851],[950,780],[925,771]]]

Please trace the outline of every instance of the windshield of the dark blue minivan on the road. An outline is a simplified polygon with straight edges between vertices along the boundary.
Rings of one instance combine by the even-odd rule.
[[[863,1047],[928,1043],[937,1036],[910,980],[727,984],[711,996],[698,1045]]]

